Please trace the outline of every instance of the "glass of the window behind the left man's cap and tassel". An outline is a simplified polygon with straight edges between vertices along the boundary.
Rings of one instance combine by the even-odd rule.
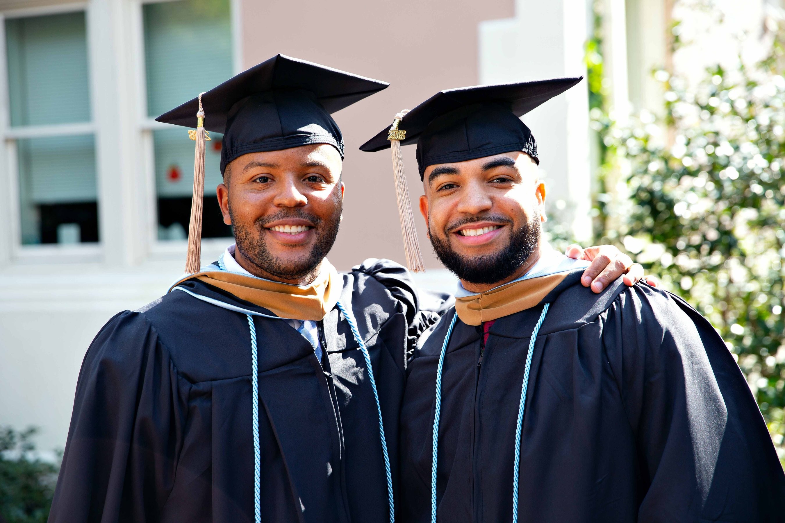
[[[228,0],[178,0],[143,9],[149,116],[165,113],[232,76]],[[215,197],[221,183],[221,135],[212,138],[205,154],[204,238],[232,235]],[[191,216],[194,142],[184,128],[155,131],[153,141],[158,237],[184,239]]]

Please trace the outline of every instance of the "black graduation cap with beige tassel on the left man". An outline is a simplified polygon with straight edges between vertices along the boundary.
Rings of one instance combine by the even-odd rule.
[[[221,174],[243,154],[311,143],[335,147],[342,159],[343,136],[330,114],[388,85],[278,54],[155,118],[195,128],[188,131],[196,151],[185,272],[198,272],[201,264],[204,147],[210,131],[224,135]]]

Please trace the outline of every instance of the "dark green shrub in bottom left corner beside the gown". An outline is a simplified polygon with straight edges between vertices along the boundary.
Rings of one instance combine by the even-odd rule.
[[[57,465],[34,456],[37,430],[0,427],[0,521],[45,523],[57,481]]]

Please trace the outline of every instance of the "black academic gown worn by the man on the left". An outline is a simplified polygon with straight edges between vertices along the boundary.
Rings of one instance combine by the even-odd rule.
[[[418,311],[407,271],[366,260],[341,274],[371,354],[397,481],[407,346]],[[198,280],[181,287],[271,314]],[[319,321],[325,356],[285,321],[254,318],[261,520],[388,521],[378,412],[363,354],[337,308]],[[174,290],[117,314],[82,364],[49,521],[254,520],[250,329],[246,314]]]

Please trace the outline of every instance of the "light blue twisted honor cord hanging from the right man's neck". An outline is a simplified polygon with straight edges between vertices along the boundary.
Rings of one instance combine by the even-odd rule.
[[[524,368],[524,381],[520,386],[520,405],[518,405],[518,420],[515,428],[515,459],[513,461],[513,523],[518,522],[518,473],[520,471],[520,431],[524,421],[524,408],[526,406],[526,389],[529,384],[529,371],[531,370],[531,354],[535,351],[535,342],[537,341],[537,333],[542,322],[545,321],[545,316],[548,314],[550,303],[546,303],[542,307],[542,314],[535,325],[535,329],[531,332],[531,340],[529,340],[529,350],[526,355],[526,366]],[[444,336],[444,343],[442,343],[442,350],[439,354],[439,364],[436,366],[436,411],[433,413],[433,458],[431,459],[431,523],[436,523],[436,463],[439,447],[439,419],[441,411],[441,376],[442,368],[444,366],[444,354],[447,352],[447,344],[450,343],[450,336],[452,329],[455,327],[455,321],[458,319],[458,314],[453,316],[450,326],[447,328],[447,335]]]

